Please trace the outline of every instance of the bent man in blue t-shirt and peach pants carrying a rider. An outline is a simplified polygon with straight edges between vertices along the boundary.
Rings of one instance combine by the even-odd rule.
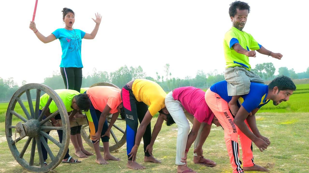
[[[232,96],[228,96],[228,83],[217,82],[212,85],[205,94],[205,100],[211,111],[218,118],[224,129],[224,138],[233,173],[243,171],[269,171],[268,169],[254,164],[252,153],[252,141],[264,151],[270,144],[265,136],[262,136],[256,127],[255,114],[260,107],[270,100],[277,106],[281,102],[289,100],[290,95],[296,90],[294,82],[286,76],[279,76],[273,79],[269,85],[251,82],[250,92],[241,95],[237,101],[239,111],[234,116],[231,113],[228,103]],[[249,113],[252,115],[249,116]],[[243,168],[239,160],[238,136],[243,151]]]

